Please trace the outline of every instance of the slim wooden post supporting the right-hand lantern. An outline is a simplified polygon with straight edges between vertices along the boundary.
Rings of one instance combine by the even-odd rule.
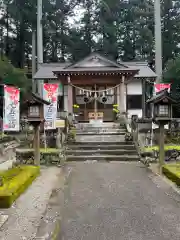
[[[159,124],[159,173],[162,174],[162,166],[164,165],[164,124]]]

